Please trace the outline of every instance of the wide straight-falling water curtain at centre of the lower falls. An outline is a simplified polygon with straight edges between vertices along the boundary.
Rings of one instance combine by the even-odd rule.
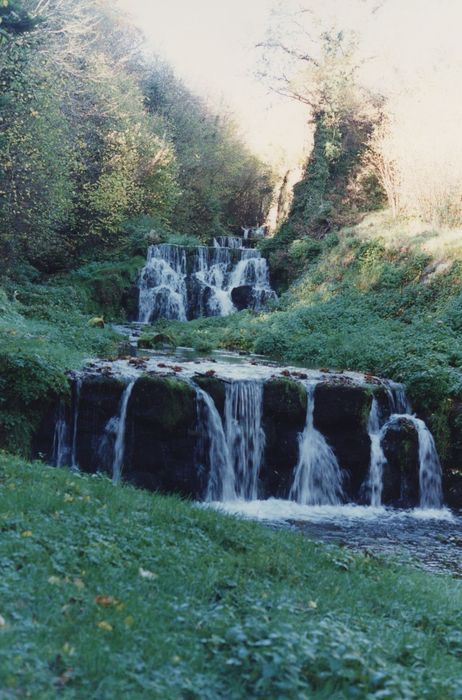
[[[265,448],[263,383],[237,380],[226,385],[225,435],[238,498],[258,497],[257,481]]]

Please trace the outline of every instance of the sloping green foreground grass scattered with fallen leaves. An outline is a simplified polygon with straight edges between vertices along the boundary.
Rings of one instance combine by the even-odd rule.
[[[0,696],[462,697],[443,575],[0,454]]]

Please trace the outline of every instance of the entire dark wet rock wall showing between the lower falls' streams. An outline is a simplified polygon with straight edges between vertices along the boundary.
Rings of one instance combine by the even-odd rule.
[[[212,443],[210,435],[200,434],[206,429],[199,420],[201,404],[197,403],[195,387],[185,381],[181,373],[178,376],[168,374],[170,366],[167,364],[162,364],[162,374],[150,371],[143,360],[130,360],[128,365],[131,371],[136,368],[140,374],[125,404],[123,478],[151,490],[203,498],[207,491],[208,462],[199,458],[199,451],[201,445]],[[170,369],[179,372],[181,368]],[[282,374],[284,376],[270,378],[263,385],[261,410],[265,448],[258,483],[261,498],[289,496],[299,460],[300,436],[307,420],[307,390],[303,384],[306,374]],[[122,397],[126,395],[128,376],[117,378],[109,368],[103,367],[93,369],[82,378],[76,463],[83,471],[102,470],[112,474],[119,414],[124,405]],[[208,369],[194,374],[192,381],[213,399],[224,432],[227,432],[225,404],[232,380],[222,379],[215,369]],[[73,399],[65,410],[70,444],[75,426],[76,388],[74,380]],[[380,386],[344,382],[338,377],[327,378],[316,385],[314,427],[335,453],[344,475],[346,500],[350,502],[364,502],[362,487],[371,457],[368,420],[373,396],[380,406],[383,403],[382,423],[388,417],[382,393]],[[43,455],[47,461],[52,460],[55,419],[55,412],[50,411],[35,442],[35,454]],[[385,505],[412,507],[419,503],[418,442],[411,420],[393,419],[386,428],[382,441],[387,459],[382,494]],[[205,466],[199,466],[201,464]],[[461,483],[460,478],[453,481],[455,501],[460,499]]]

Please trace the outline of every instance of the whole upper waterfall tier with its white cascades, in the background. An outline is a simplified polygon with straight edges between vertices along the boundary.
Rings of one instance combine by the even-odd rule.
[[[224,236],[213,247],[150,246],[140,275],[138,320],[186,321],[264,308],[276,298],[268,265],[259,251],[239,241]]]

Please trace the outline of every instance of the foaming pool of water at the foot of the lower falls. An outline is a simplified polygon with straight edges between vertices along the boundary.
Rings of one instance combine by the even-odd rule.
[[[302,506],[292,501],[231,501],[212,507],[302,532],[371,555],[391,555],[420,568],[462,578],[462,514],[369,506]]]

